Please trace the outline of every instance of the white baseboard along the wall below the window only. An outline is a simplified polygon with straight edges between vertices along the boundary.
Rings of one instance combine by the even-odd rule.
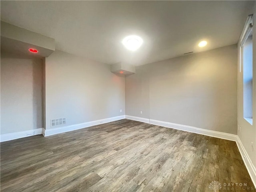
[[[249,175],[252,179],[252,182],[254,184],[254,187],[256,188],[256,168],[252,164],[252,160],[248,156],[248,153],[246,152],[240,138],[237,136],[236,145],[238,146],[238,149],[240,151],[240,154],[242,156],[242,159],[244,160],[244,164],[249,172]]]

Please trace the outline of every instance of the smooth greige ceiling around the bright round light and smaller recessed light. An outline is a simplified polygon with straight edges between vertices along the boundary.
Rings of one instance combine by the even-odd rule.
[[[56,40],[56,49],[142,65],[238,42],[253,1],[1,1],[1,20]],[[138,35],[135,52],[122,45]],[[204,48],[197,46],[207,40]]]

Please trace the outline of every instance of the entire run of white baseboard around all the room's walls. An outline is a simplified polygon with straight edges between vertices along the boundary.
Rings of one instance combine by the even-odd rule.
[[[86,128],[86,127],[90,127],[90,126],[94,126],[94,125],[98,125],[98,124],[104,124],[104,123],[108,123],[108,122],[112,122],[112,121],[116,121],[116,120],[121,120],[124,118],[130,119],[130,120],[135,120],[135,121],[140,121],[140,122],[145,122],[145,123],[149,123],[149,124],[154,124],[154,125],[158,125],[158,126],[164,126],[164,127],[168,127],[168,128],[174,128],[174,129],[188,131],[188,132],[192,132],[192,133],[203,134],[203,135],[207,135],[207,136],[212,136],[212,137],[217,137],[217,138],[221,138],[221,139],[235,141],[238,146],[238,149],[240,151],[240,154],[242,156],[242,159],[244,160],[244,164],[250,174],[250,177],[252,178],[252,182],[254,183],[254,186],[256,187],[256,168],[252,164],[250,157],[248,156],[240,138],[237,135],[218,132],[218,131],[212,131],[212,130],[206,130],[206,129],[196,128],[196,127],[186,126],[186,125],[181,125],[181,124],[175,124],[175,123],[170,123],[170,122],[163,122],[163,121],[151,120],[151,119],[147,119],[147,118],[122,115],[122,116],[116,116],[116,117],[112,117],[112,118],[106,118],[106,119],[90,121],[90,122],[85,122],[85,123],[75,124],[75,125],[70,125],[70,126],[64,126],[64,127],[59,127],[59,128],[47,129],[47,130],[45,130],[44,128],[38,128],[38,129],[33,129],[33,130],[2,134],[2,135],[0,135],[0,142],[14,140],[14,139],[18,139],[18,138],[24,138],[24,137],[33,136],[33,135],[39,135],[39,134],[43,134],[44,136],[50,136],[50,135],[54,135],[54,134],[58,134],[58,133],[68,132],[68,131]]]

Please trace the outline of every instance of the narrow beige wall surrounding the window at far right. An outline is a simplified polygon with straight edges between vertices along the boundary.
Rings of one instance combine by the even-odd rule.
[[[248,10],[247,14],[244,15],[244,22],[249,14],[254,14],[253,16],[253,58],[252,58],[252,68],[253,68],[253,79],[252,79],[252,88],[253,88],[253,97],[252,97],[252,125],[244,119],[244,111],[243,111],[243,62],[241,62],[241,72],[240,72],[240,47],[238,46],[238,65],[237,65],[237,81],[238,81],[238,125],[241,128],[241,131],[238,131],[238,136],[252,162],[254,167],[256,167],[256,3],[254,2],[254,6],[251,7],[251,10]],[[252,149],[252,142],[253,148]],[[254,171],[256,169],[254,168]],[[256,182],[256,173],[254,178],[252,178],[254,182]]]

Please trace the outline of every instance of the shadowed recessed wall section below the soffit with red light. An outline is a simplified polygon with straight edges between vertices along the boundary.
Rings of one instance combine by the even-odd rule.
[[[1,52],[1,134],[42,128],[42,60]]]

